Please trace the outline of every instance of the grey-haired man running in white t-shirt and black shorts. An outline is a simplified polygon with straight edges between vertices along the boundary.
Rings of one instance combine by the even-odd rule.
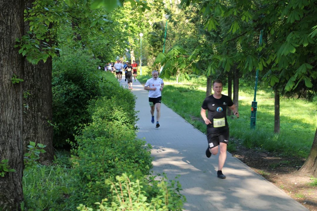
[[[159,72],[152,71],[152,77],[146,81],[144,86],[145,90],[149,91],[149,104],[151,107],[151,122],[154,124],[154,109],[156,107],[156,127],[159,127],[159,118],[161,116],[161,100],[162,100],[162,90],[164,87],[164,82],[162,78],[159,78]]]

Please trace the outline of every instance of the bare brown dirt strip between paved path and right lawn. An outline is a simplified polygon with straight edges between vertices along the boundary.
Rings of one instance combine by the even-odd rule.
[[[236,145],[236,151],[231,152],[234,157],[274,183],[309,210],[317,211],[317,187],[308,184],[314,180],[311,177],[294,175],[304,164],[304,159],[247,149],[238,140],[233,138],[230,140]]]

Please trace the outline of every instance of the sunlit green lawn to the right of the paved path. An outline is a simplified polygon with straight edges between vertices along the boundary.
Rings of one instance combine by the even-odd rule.
[[[141,83],[151,78],[150,70],[142,67]],[[188,83],[177,83],[175,78],[164,78],[162,101],[194,127],[206,133],[206,126],[200,116],[200,108],[206,97],[206,78],[192,77]],[[244,86],[243,80],[239,87],[239,119],[228,118],[230,136],[238,139],[248,148],[281,152],[282,155],[307,158],[312,146],[317,127],[316,104],[298,99],[281,97],[280,119],[281,133],[274,131],[274,92],[270,88],[258,87],[257,91],[257,122],[256,129],[250,129],[251,102],[254,89]],[[224,87],[223,94],[227,95]],[[230,151],[230,149],[228,148]],[[234,150],[234,146],[231,146]]]

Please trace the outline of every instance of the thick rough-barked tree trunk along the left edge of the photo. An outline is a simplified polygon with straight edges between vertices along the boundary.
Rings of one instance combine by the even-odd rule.
[[[9,169],[0,177],[0,210],[20,210],[23,201],[23,83],[13,84],[13,75],[23,79],[23,57],[16,38],[23,35],[24,1],[0,0],[0,161],[9,159]]]

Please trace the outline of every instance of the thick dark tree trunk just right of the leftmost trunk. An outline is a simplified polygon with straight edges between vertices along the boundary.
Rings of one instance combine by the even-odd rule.
[[[25,1],[26,7],[32,8],[33,0]],[[29,30],[29,22],[24,22],[25,31]],[[52,44],[51,39],[47,42]],[[40,47],[42,42],[40,42]],[[54,159],[53,148],[53,127],[48,121],[52,121],[52,57],[44,63],[39,61],[37,65],[32,65],[26,59],[24,61],[24,90],[30,95],[24,99],[23,112],[23,149],[30,141],[36,144],[46,145],[46,153],[41,154],[42,164],[51,163]]]

